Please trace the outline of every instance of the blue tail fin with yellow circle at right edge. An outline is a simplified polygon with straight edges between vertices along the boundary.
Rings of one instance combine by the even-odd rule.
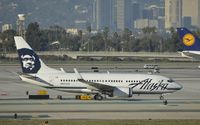
[[[177,28],[184,50],[200,51],[200,39],[186,28]]]

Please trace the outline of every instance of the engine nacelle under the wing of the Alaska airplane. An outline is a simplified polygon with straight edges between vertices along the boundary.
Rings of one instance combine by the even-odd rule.
[[[119,87],[115,88],[113,91],[112,96],[118,97],[132,97],[133,96],[133,89],[128,87]]]

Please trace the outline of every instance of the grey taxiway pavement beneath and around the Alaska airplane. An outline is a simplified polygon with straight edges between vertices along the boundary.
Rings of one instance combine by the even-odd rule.
[[[75,94],[54,90],[48,90],[50,100],[29,100],[26,91],[34,94],[44,88],[22,82],[15,74],[21,70],[19,66],[3,65],[0,66],[0,119],[13,118],[14,113],[22,119],[200,119],[200,70],[184,65],[174,68],[176,66],[172,65],[161,67],[160,75],[173,78],[183,85],[183,89],[165,96],[168,105],[163,105],[158,95],[81,101],[74,99]],[[63,68],[69,70],[72,67]],[[147,73],[147,70],[138,68],[137,71]],[[106,71],[106,67],[102,69]],[[109,70],[112,73],[135,72],[136,69],[113,67]],[[80,69],[84,70],[88,71],[88,67]],[[56,99],[57,95],[64,99]]]

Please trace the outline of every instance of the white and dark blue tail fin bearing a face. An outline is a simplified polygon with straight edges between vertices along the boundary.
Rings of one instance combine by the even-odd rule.
[[[60,72],[56,69],[46,66],[21,36],[15,36],[14,39],[23,73],[36,74]]]

